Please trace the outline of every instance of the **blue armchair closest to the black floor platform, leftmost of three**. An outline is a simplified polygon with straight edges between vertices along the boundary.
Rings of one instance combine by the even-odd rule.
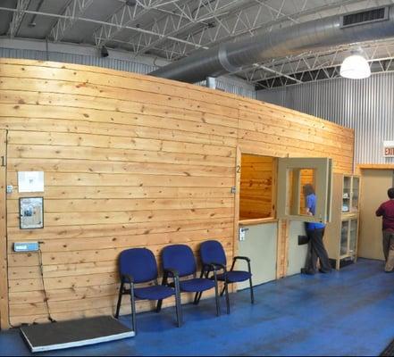
[[[119,270],[121,275],[121,288],[119,290],[118,305],[116,307],[115,318],[119,318],[121,310],[122,295],[130,295],[131,302],[131,324],[133,330],[137,333],[136,325],[136,299],[141,300],[157,300],[156,311],[161,310],[161,302],[163,299],[175,295],[176,313],[178,327],[182,324],[182,314],[180,308],[180,285],[178,273],[174,270],[164,270],[165,274],[171,273],[174,279],[174,287],[158,285],[157,282],[157,263],[155,255],[147,248],[132,248],[125,250],[119,257]],[[148,283],[154,281],[155,285],[136,287],[139,283]],[[129,284],[130,289],[126,289],[125,285]]]

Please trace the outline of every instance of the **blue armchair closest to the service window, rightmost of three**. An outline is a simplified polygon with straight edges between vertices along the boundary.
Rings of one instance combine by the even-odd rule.
[[[230,313],[230,302],[229,302],[229,291],[228,285],[232,283],[239,283],[241,281],[249,280],[250,286],[250,300],[251,303],[255,303],[255,295],[253,292],[253,284],[252,284],[252,271],[250,270],[250,259],[244,256],[236,256],[234,257],[231,265],[231,270],[227,271],[227,259],[226,253],[224,253],[224,249],[222,244],[216,240],[208,240],[204,242],[200,246],[200,256],[201,262],[203,264],[202,273],[205,274],[205,277],[208,277],[210,270],[209,267],[213,265],[216,269],[222,270],[222,273],[216,274],[216,279],[218,281],[224,282],[224,287],[222,289],[221,296],[223,293],[226,293],[226,303],[227,303],[227,313]],[[234,270],[235,263],[238,260],[243,260],[247,262],[247,271],[245,270]],[[197,296],[199,299],[201,296]]]

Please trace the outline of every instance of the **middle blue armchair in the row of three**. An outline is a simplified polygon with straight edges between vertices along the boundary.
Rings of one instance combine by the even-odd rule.
[[[219,292],[216,279],[216,269],[211,266],[210,269],[214,272],[214,278],[200,278],[196,277],[197,264],[192,250],[188,245],[168,245],[163,249],[163,269],[169,271],[176,270],[179,277],[193,276],[193,278],[180,280],[180,292],[196,293],[194,303],[199,303],[197,294],[201,298],[204,291],[214,287],[215,301],[216,301],[216,315],[220,315]],[[171,276],[169,276],[171,278]],[[161,304],[161,302],[159,302]]]

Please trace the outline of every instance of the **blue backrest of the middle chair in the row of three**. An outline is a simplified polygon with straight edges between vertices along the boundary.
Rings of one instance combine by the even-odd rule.
[[[177,270],[180,277],[192,275],[197,270],[196,260],[188,245],[167,245],[162,257],[163,268]]]

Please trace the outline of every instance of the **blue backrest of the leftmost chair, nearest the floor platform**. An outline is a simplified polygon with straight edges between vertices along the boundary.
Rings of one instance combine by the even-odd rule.
[[[157,278],[155,255],[147,248],[125,250],[119,257],[122,275],[130,274],[135,283],[145,283]]]

